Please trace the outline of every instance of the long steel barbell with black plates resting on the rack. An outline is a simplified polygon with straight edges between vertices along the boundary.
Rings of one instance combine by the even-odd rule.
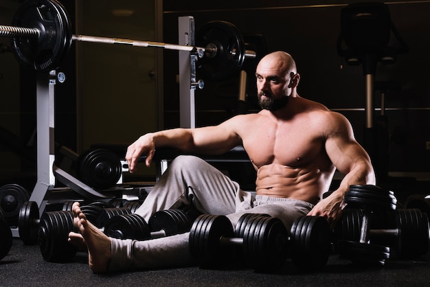
[[[245,49],[238,29],[226,21],[203,25],[196,33],[196,46],[72,34],[69,15],[56,0],[25,1],[14,14],[12,26],[0,25],[0,36],[12,38],[16,59],[34,71],[57,69],[72,41],[190,51],[201,59],[199,70],[215,80],[238,71],[245,58],[256,58],[255,51]]]

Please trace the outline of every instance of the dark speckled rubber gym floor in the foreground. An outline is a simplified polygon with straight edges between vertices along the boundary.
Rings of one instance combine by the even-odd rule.
[[[430,286],[430,256],[419,260],[395,257],[379,267],[358,267],[330,255],[321,271],[304,273],[287,260],[275,273],[244,268],[204,270],[197,266],[152,271],[94,274],[87,253],[72,262],[43,260],[38,245],[14,239],[8,255],[0,260],[0,286]]]

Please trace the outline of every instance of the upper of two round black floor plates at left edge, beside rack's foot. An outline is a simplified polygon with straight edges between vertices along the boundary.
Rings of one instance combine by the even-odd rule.
[[[0,209],[9,226],[18,226],[21,206],[29,199],[30,194],[21,185],[12,183],[0,187]]]

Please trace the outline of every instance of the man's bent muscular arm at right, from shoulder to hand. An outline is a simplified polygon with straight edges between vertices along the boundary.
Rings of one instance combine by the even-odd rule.
[[[324,216],[330,227],[335,227],[341,217],[343,198],[350,185],[374,185],[375,174],[370,157],[362,146],[354,139],[352,126],[346,117],[332,113],[325,148],[328,157],[337,170],[344,174],[337,190],[330,196],[321,199],[310,211],[310,216]]]

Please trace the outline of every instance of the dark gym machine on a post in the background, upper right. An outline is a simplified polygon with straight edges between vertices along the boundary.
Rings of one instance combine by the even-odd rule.
[[[400,47],[390,47],[393,33]],[[345,47],[346,46],[346,47]],[[385,3],[353,3],[341,10],[341,33],[337,53],[348,65],[362,65],[365,76],[365,129],[363,147],[370,154],[378,179],[388,174],[387,126],[374,121],[374,77],[378,62],[392,64],[398,54],[409,51],[389,15]],[[383,100],[382,100],[383,101]],[[383,115],[384,102],[381,102]]]

